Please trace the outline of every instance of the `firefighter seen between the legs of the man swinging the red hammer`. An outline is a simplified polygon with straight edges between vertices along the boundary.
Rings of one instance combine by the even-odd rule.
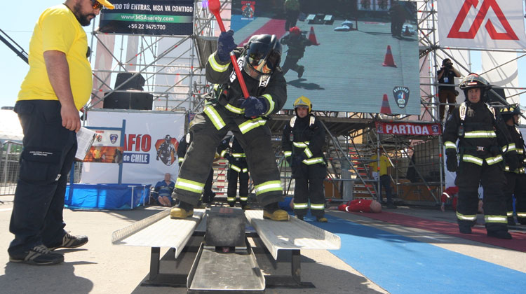
[[[229,181],[227,188],[227,202],[230,207],[236,204],[236,193],[238,190],[239,179],[239,202],[243,210],[250,209],[248,207],[248,165],[245,151],[239,141],[234,136],[224,138],[220,146],[217,148],[222,158],[229,161],[229,171],[227,180]]]

